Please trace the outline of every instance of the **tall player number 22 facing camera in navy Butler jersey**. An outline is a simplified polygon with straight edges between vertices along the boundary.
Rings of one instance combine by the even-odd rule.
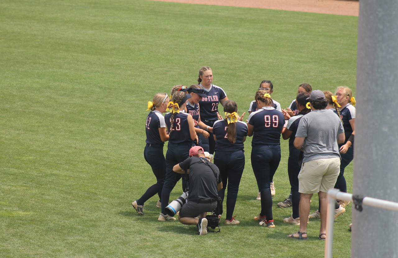
[[[197,81],[201,84],[201,86],[206,91],[206,96],[199,101],[200,105],[200,116],[202,122],[206,124],[206,130],[209,131],[210,136],[207,139],[202,138],[203,149],[213,154],[215,149],[215,142],[213,138],[213,134],[211,133],[213,130],[213,124],[218,120],[217,112],[218,105],[221,105],[228,100],[226,93],[219,86],[211,84],[213,82],[213,72],[209,66],[203,66],[199,70],[199,77]]]

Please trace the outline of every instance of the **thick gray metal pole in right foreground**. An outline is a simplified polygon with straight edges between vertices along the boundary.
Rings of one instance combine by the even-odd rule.
[[[353,194],[398,202],[398,1],[361,0]],[[398,213],[353,208],[351,257],[398,257]]]

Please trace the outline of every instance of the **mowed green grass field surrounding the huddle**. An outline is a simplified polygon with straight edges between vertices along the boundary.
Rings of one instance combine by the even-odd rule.
[[[0,1],[0,256],[322,257],[319,220],[309,241],[288,239],[298,227],[283,223],[291,209],[276,206],[290,192],[287,141],[274,178],[276,228],[253,220],[251,138],[240,225],[199,237],[193,226],[158,222],[156,196],[139,217],[131,202],[155,182],[143,159],[146,101],[195,83],[204,65],[240,114],[262,80],[285,108],[303,82],[355,92],[357,22],[143,0]],[[336,219],[334,257],[350,257],[350,222],[351,205]]]

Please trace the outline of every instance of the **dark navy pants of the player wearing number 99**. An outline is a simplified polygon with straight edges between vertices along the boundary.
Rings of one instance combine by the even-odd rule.
[[[267,220],[272,217],[272,197],[270,182],[281,161],[280,145],[254,145],[252,146],[252,168],[257,180],[258,191],[261,194],[261,216],[266,216]]]

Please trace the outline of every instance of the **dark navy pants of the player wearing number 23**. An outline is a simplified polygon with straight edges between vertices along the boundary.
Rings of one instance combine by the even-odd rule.
[[[170,193],[172,192],[174,186],[183,176],[173,171],[173,167],[178,163],[184,161],[189,157],[189,149],[192,147],[191,142],[183,142],[181,144],[174,144],[169,142],[168,149],[166,152],[166,177],[164,179],[163,189],[162,189],[162,213],[165,213],[166,207],[168,206]],[[188,184],[188,182],[187,182]],[[187,185],[188,187],[188,185]],[[182,179],[182,190],[185,189],[185,180]],[[182,193],[182,192],[181,192]]]

